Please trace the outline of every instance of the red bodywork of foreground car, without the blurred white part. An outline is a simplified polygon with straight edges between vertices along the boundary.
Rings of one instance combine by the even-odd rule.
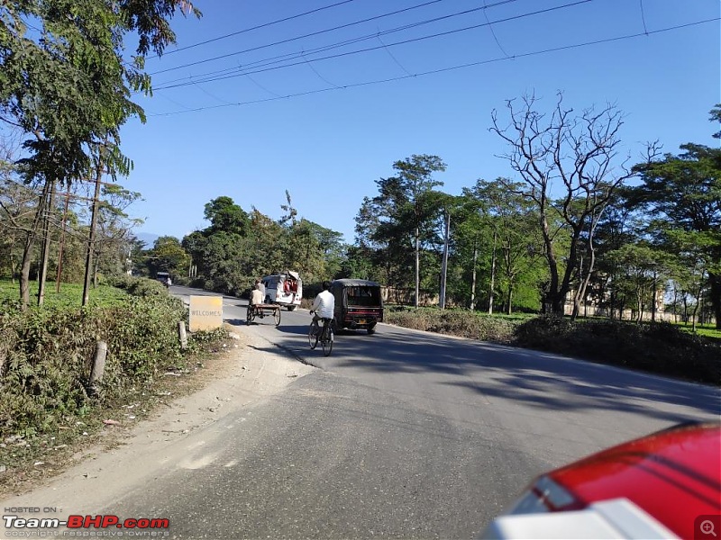
[[[721,535],[721,424],[665,429],[543,474],[508,514],[577,511],[608,500],[630,501],[680,538],[714,537],[698,530],[709,527],[699,522],[705,517]]]

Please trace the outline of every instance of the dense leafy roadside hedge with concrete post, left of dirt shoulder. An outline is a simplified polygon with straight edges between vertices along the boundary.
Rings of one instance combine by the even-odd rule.
[[[183,302],[152,280],[121,285],[138,296],[112,305],[21,311],[13,302],[0,315],[0,442],[6,437],[76,429],[94,407],[150,385],[160,372],[185,367],[202,346],[181,351]],[[200,337],[205,339],[205,337]],[[87,392],[96,344],[107,344],[105,372],[95,397]],[[210,340],[208,340],[210,341]]]

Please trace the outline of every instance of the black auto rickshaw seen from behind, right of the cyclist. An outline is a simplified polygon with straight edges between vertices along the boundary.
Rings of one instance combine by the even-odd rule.
[[[366,329],[376,331],[383,322],[383,299],[380,285],[365,279],[336,279],[331,284],[335,297],[334,322],[336,330]]]

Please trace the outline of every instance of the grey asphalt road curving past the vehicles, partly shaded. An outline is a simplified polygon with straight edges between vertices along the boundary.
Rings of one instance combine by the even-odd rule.
[[[319,369],[220,420],[213,464],[107,513],[167,516],[173,538],[471,538],[535,474],[721,410],[714,388],[388,325],[324,357],[307,311],[245,309],[226,297],[224,319]]]

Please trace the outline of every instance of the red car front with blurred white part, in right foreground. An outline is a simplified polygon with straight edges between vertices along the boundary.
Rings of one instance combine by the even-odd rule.
[[[479,537],[717,538],[719,529],[721,422],[711,422],[664,429],[545,473]]]

